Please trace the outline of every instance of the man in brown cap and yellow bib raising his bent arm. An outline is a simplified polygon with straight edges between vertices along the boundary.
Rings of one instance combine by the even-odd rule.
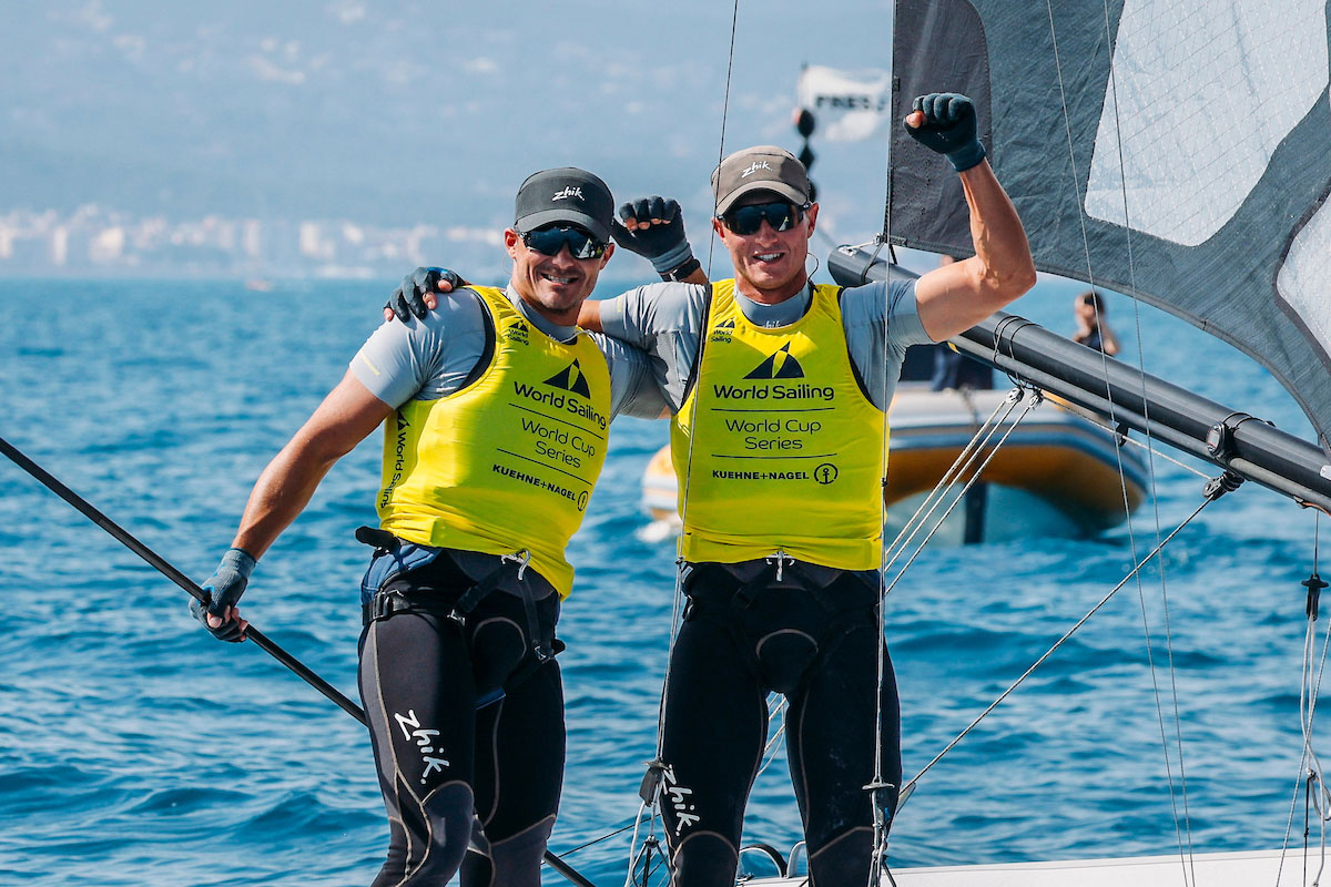
[[[815,886],[862,883],[870,870],[876,773],[890,786],[874,793],[886,821],[896,809],[900,717],[877,616],[886,408],[906,347],[974,326],[1036,281],[970,100],[922,96],[906,126],[960,174],[974,257],[914,282],[815,286],[807,170],[781,148],[748,148],[712,174],[713,229],[735,279],[708,285],[677,205],[642,199],[620,209],[615,238],[669,282],[579,314],[584,328],[652,355],[673,416],[689,604],[655,775],[677,887],[733,884],[768,692],[789,701]],[[423,311],[421,287],[398,295]]]

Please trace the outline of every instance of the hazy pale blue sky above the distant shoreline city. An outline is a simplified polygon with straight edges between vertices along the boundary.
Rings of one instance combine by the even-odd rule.
[[[888,68],[890,4],[47,0],[0,29],[0,211],[496,225],[536,169],[705,225],[725,146],[799,150],[803,64]],[[823,221],[880,225],[885,141],[821,144]],[[708,207],[709,209],[709,207]]]

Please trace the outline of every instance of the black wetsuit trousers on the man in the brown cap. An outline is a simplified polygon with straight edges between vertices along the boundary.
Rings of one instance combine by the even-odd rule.
[[[816,594],[744,584],[699,564],[666,686],[663,817],[677,887],[732,887],[744,806],[768,735],[767,694],[788,702],[787,750],[816,887],[866,883],[873,848],[878,653],[882,778],[901,783],[896,677],[876,616],[877,574]],[[749,586],[752,589],[752,586]],[[888,817],[896,791],[885,793]]]

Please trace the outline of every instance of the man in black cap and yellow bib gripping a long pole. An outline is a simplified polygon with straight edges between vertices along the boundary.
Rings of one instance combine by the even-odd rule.
[[[258,479],[196,606],[214,636],[244,640],[236,604],[256,561],[383,424],[379,528],[357,532],[375,547],[359,642],[390,828],[375,887],[443,884],[459,867],[467,886],[540,883],[564,763],[564,547],[611,418],[664,406],[643,352],[574,326],[614,253],[612,213],[591,173],[527,178],[504,231],[507,290],[467,287],[370,336]]]

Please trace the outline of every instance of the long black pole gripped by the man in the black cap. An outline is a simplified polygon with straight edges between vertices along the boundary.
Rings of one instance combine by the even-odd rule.
[[[121,545],[138,555],[149,567],[156,569],[158,573],[176,582],[180,588],[189,593],[190,597],[200,601],[201,604],[208,604],[209,594],[193,580],[190,580],[185,573],[176,569],[170,563],[166,561],[161,555],[152,551],[144,545],[138,539],[130,535],[126,529],[116,524],[113,520],[106,517],[101,511],[98,511],[87,499],[72,491],[69,487],[63,484],[55,475],[48,472],[45,468],[35,463],[28,456],[23,455],[13,444],[11,444],[4,438],[0,438],[0,452],[9,457],[16,465],[23,468],[25,472],[33,476],[43,487],[56,493],[64,499],[69,505],[75,508],[84,517],[95,523],[101,529],[106,531]],[[337,688],[321,678],[305,664],[297,660],[294,656],[284,650],[281,646],[270,641],[262,632],[254,628],[253,624],[245,629],[245,640],[253,641],[256,646],[272,656],[274,660],[290,669],[302,681],[313,686],[315,690],[322,693],[330,702],[337,705],[339,709],[350,714],[353,718],[359,721],[363,726],[369,726],[369,721],[365,717],[365,710],[358,706],[351,699],[346,698]],[[546,850],[544,862],[563,875],[567,880],[576,884],[578,887],[592,887],[591,882],[579,875],[571,866],[555,856],[550,850]]]

